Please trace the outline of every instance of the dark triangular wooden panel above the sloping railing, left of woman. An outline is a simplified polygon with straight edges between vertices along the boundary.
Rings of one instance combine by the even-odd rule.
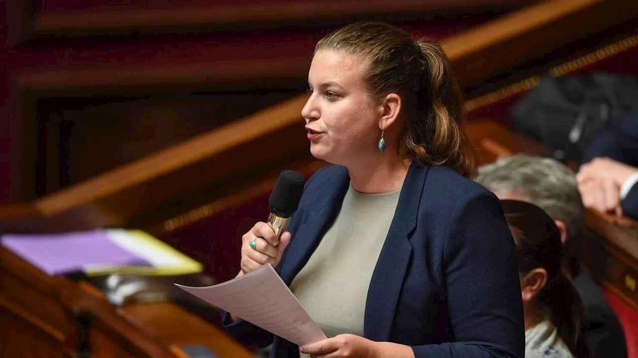
[[[38,194],[50,194],[212,131],[298,92],[43,100],[38,122],[44,153],[38,156],[46,162],[39,163],[42,170],[36,179],[43,186]]]

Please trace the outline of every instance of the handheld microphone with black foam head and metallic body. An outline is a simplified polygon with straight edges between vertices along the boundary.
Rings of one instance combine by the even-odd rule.
[[[297,211],[301,194],[304,191],[304,177],[292,170],[279,174],[277,183],[268,200],[268,224],[275,231],[277,239],[286,231],[288,219]]]

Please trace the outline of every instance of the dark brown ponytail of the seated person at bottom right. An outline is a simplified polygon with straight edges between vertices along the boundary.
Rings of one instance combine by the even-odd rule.
[[[584,324],[581,296],[563,273],[558,271],[556,277],[547,282],[538,296],[538,305],[549,313],[558,329],[558,335],[574,357],[587,357],[582,336]]]

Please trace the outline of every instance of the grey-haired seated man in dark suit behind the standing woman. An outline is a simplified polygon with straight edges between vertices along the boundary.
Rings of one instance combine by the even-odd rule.
[[[579,270],[573,255],[584,225],[584,208],[574,173],[554,159],[513,155],[479,168],[477,182],[500,199],[536,204],[556,220],[566,253],[563,272],[574,283],[584,305],[590,356],[626,357],[625,334],[618,317],[597,283]]]

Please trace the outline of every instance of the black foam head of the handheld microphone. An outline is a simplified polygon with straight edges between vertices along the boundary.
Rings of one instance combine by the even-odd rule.
[[[292,170],[279,174],[279,179],[272,189],[268,201],[269,210],[278,217],[290,217],[299,206],[301,193],[304,191],[304,177]]]

